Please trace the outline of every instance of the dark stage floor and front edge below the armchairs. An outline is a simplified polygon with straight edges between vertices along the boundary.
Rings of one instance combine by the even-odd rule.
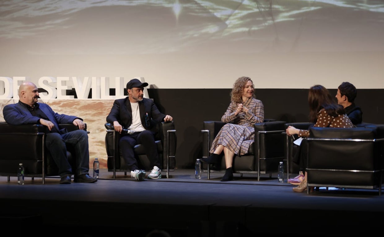
[[[17,177],[9,182],[0,177],[0,226],[13,233],[24,226],[24,235],[32,228],[40,236],[145,237],[153,230],[172,237],[349,236],[373,233],[384,213],[378,190],[295,193],[293,185],[278,183],[277,174],[262,175],[260,181],[256,174],[234,174],[229,182],[220,181],[223,173],[196,179],[190,169],[175,169],[170,178],[162,172],[159,180],[116,174],[113,179],[112,172],[101,169],[96,183],[70,185],[60,185],[59,177],[46,178],[44,185],[41,178],[27,177],[18,185]]]

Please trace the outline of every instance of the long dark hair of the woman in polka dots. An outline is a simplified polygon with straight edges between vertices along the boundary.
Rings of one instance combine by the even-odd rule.
[[[322,108],[333,117],[339,114],[345,114],[343,106],[338,105],[334,97],[329,94],[327,88],[322,85],[314,85],[310,88],[308,92],[308,104],[310,106],[309,118],[311,123],[316,123],[317,113],[319,113]]]

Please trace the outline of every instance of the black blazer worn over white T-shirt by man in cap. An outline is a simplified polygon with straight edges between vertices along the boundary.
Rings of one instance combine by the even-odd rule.
[[[156,124],[164,121],[165,114],[160,113],[159,109],[151,99],[143,98],[139,103],[141,124],[146,130],[156,131]],[[146,116],[148,114],[148,116]],[[146,123],[149,126],[147,126]],[[111,111],[107,116],[107,122],[113,124],[118,121],[119,124],[127,129],[132,124],[132,108],[128,96],[124,99],[118,99],[113,102]]]

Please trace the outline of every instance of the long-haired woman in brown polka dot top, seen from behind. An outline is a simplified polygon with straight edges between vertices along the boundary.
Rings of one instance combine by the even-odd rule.
[[[308,104],[310,106],[310,122],[314,123],[314,127],[339,127],[350,128],[354,127],[348,115],[345,114],[344,108],[338,105],[333,96],[329,94],[328,90],[322,85],[314,85],[308,92]],[[289,136],[298,134],[299,137],[308,137],[310,135],[309,130],[300,130],[293,126],[289,126],[286,129],[286,133]],[[300,157],[300,170],[305,170],[306,167],[306,154],[301,152],[301,147],[306,145],[306,139],[301,142],[298,157]],[[293,191],[302,192],[307,188],[306,173],[301,181],[300,185],[293,188]]]

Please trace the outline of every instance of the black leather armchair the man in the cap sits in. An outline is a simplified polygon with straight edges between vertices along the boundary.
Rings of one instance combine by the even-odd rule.
[[[162,167],[159,167],[161,170],[167,170],[167,178],[169,178],[169,172],[174,171],[176,160],[176,145],[177,137],[174,122],[163,122],[157,124],[158,131],[155,136],[155,142],[157,144],[157,151],[159,152],[159,159]],[[119,152],[119,140],[120,133],[114,131],[113,124],[106,123],[105,127],[107,133],[105,135],[105,148],[108,155],[107,166],[108,171],[113,172],[113,178],[116,178],[116,172],[124,172],[124,175],[127,175],[127,172],[130,172],[127,167],[125,160]],[[142,170],[150,170],[152,167],[149,167],[149,159],[145,154],[144,146],[137,144],[134,147],[134,152],[137,155],[137,163],[139,168]]]

